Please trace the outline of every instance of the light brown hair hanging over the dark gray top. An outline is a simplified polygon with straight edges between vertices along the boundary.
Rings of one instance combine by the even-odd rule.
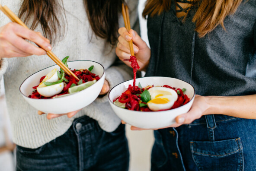
[[[194,0],[193,5],[198,5],[192,21],[196,22],[195,31],[199,37],[214,30],[218,25],[224,28],[224,19],[227,15],[234,14],[243,0]],[[199,3],[200,2],[200,3]],[[171,0],[147,0],[143,16],[160,15],[163,11],[170,10]],[[185,16],[186,17],[186,16]],[[225,28],[224,28],[225,29]]]

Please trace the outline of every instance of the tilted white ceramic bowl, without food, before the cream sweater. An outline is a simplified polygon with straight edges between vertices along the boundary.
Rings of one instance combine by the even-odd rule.
[[[29,98],[28,96],[31,95],[33,91],[32,87],[39,84],[39,79],[42,76],[47,75],[54,68],[60,70],[58,65],[54,65],[32,74],[20,85],[19,91],[21,92],[23,98],[25,98],[25,100],[35,109],[53,114],[64,114],[67,112],[76,111],[92,103],[98,97],[102,89],[105,80],[104,67],[100,63],[90,60],[70,61],[67,62],[67,65],[71,70],[88,69],[93,65],[94,68],[92,73],[99,75],[100,79],[90,87],[68,96],[51,99]]]

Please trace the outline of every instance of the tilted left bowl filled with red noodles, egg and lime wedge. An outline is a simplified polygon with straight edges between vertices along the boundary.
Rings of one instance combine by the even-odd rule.
[[[32,74],[20,85],[23,98],[37,110],[53,114],[77,111],[92,103],[101,92],[105,70],[100,63],[67,59],[63,63],[80,80],[54,65]]]

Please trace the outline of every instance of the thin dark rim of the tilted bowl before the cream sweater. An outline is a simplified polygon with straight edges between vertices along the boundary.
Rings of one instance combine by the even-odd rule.
[[[90,62],[98,63],[98,62],[93,61],[93,60],[72,60],[72,61],[68,61],[67,63],[69,63],[69,62],[77,62],[77,61],[90,61]],[[104,68],[104,66],[103,66],[101,63],[98,63],[98,64],[101,65],[102,68],[103,68],[103,73],[102,73],[102,76],[103,76],[103,75],[105,74],[105,72],[106,72],[106,71],[105,71],[105,68]],[[55,65],[52,65],[52,66],[58,66],[58,65],[55,64]],[[50,68],[50,67],[52,67],[52,66],[48,66],[48,67],[46,67],[46,68],[44,68],[44,69],[42,69],[42,70],[45,70],[45,69]],[[29,79],[29,77],[31,77],[32,75],[34,75],[34,74],[36,74],[36,73],[39,73],[39,72],[42,71],[42,70],[39,70],[39,71],[37,71],[37,72],[31,74],[30,76],[28,76],[28,77],[21,83],[21,85],[19,86],[19,92],[20,92],[24,97],[29,98],[29,97],[27,97],[26,95],[24,95],[24,94],[21,92],[21,86],[22,86],[22,84],[23,84],[27,79]],[[102,79],[102,76],[100,77],[100,79]],[[100,80],[100,79],[99,79],[99,80]],[[98,81],[99,81],[99,80],[98,80]],[[98,81],[97,81],[97,82],[98,82]],[[97,82],[95,82],[94,84],[96,84]],[[90,86],[90,87],[91,87],[91,86]],[[88,88],[90,88],[90,87],[88,87]],[[88,89],[88,88],[86,88],[86,89]],[[83,89],[83,90],[86,90],[86,89]],[[83,91],[83,90],[82,90],[82,91]],[[80,92],[82,92],[82,91],[80,91]],[[69,97],[69,96],[75,95],[75,94],[77,94],[77,93],[70,94],[70,95],[64,96],[64,97],[59,97],[59,98],[48,98],[48,99],[31,98],[31,99],[34,99],[34,100],[54,100],[54,99],[66,98],[66,97]]]

